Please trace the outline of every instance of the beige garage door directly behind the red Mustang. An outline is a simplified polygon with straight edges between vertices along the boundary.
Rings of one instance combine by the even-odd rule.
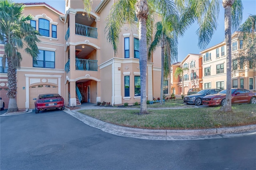
[[[29,88],[29,108],[34,109],[34,100],[33,98],[38,97],[41,94],[47,93],[58,93],[58,87],[54,85],[35,85]]]

